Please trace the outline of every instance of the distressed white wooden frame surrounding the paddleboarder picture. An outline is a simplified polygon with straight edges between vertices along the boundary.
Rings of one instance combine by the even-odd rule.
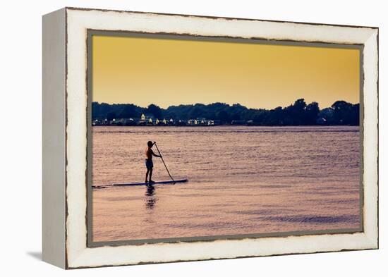
[[[363,47],[363,230],[87,245],[87,33],[146,32]],[[378,28],[63,8],[43,17],[43,259],[63,269],[378,248]]]

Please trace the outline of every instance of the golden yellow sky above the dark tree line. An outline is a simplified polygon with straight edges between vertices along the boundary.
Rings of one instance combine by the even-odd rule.
[[[107,103],[359,102],[359,50],[144,37],[92,37],[92,99]]]

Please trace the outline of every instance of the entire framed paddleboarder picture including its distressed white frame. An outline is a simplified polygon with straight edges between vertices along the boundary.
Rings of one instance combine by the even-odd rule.
[[[378,248],[378,28],[43,16],[43,259]]]

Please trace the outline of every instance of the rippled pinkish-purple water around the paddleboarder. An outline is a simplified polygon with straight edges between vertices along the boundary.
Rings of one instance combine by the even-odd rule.
[[[358,127],[94,127],[93,185],[143,182],[156,140],[188,183],[93,189],[93,240],[358,228]],[[156,149],[154,149],[156,152]],[[154,158],[154,180],[169,180]]]

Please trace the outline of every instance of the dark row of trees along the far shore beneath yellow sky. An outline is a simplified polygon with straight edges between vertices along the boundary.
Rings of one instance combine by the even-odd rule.
[[[306,104],[297,99],[293,104],[275,109],[248,109],[241,104],[193,104],[169,106],[162,109],[155,104],[140,107],[134,104],[92,103],[92,120],[108,121],[114,118],[140,118],[142,114],[154,118],[173,118],[188,121],[206,118],[221,124],[233,122],[248,125],[359,125],[360,105],[335,101],[332,106],[320,109],[317,102]]]

